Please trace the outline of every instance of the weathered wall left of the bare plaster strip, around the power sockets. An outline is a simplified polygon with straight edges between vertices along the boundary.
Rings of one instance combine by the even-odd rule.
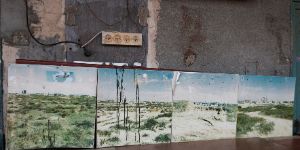
[[[140,62],[147,54],[147,1],[129,0],[28,0],[31,31],[43,43],[71,40],[85,43],[99,31],[142,32],[143,47],[102,46],[100,37],[86,49],[74,44],[38,45],[26,29],[23,0],[2,0],[1,28],[4,43],[18,47],[20,59],[56,61]],[[128,14],[129,12],[129,14]],[[15,18],[15,19],[12,19]],[[103,20],[101,22],[100,20]],[[118,22],[118,23],[115,23]],[[112,26],[106,24],[114,24]],[[22,40],[16,40],[22,37]]]

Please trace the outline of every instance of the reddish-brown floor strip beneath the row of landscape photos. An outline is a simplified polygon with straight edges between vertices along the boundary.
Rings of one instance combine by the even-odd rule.
[[[126,146],[102,150],[299,150],[300,137],[273,139],[228,139],[172,143],[145,146]]]

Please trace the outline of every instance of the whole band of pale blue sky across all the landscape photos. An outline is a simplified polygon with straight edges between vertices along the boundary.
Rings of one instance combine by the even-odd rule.
[[[8,73],[9,93],[26,90],[28,94],[96,96],[96,68],[12,64]],[[64,76],[66,78],[56,78]],[[98,77],[98,99],[116,100],[116,69],[99,69]],[[141,101],[171,101],[172,80],[175,84],[173,88],[176,87],[174,100],[237,103],[237,100],[267,98],[292,101],[296,82],[293,77],[196,72],[182,72],[174,76],[171,71],[125,69],[124,95],[128,101],[135,100],[135,77],[140,87]]]

